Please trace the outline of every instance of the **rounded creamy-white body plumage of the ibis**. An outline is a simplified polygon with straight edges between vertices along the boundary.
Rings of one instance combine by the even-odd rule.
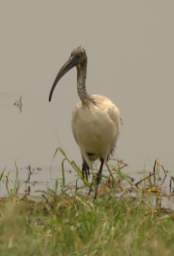
[[[90,160],[104,159],[115,147],[120,128],[119,109],[106,97],[93,95],[96,104],[81,102],[72,114],[72,130],[82,156]],[[88,156],[87,153],[93,154]]]

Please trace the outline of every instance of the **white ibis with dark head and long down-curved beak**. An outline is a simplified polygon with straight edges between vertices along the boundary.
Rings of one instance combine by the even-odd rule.
[[[119,108],[107,97],[90,95],[86,88],[87,54],[79,46],[70,54],[60,68],[49,93],[52,100],[54,89],[59,80],[72,68],[77,70],[77,93],[80,102],[72,112],[72,132],[82,157],[82,175],[88,179],[92,163],[100,161],[96,174],[94,198],[98,195],[98,186],[104,164],[112,155],[120,133],[121,116]]]

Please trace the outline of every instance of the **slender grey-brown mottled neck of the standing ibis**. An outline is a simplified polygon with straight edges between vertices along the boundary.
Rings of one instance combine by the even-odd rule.
[[[77,66],[77,92],[82,103],[90,101],[90,95],[86,90],[87,62]]]

